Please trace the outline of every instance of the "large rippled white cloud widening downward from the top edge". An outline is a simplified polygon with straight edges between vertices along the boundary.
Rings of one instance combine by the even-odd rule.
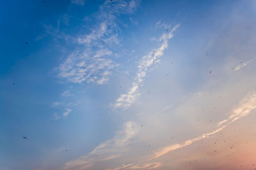
[[[72,2],[80,3],[77,0]],[[137,4],[136,1],[105,1],[94,15],[96,24],[93,30],[74,38],[74,44],[79,47],[70,52],[57,68],[58,76],[72,83],[106,83],[113,68],[118,66],[111,50],[111,46],[119,43],[116,19],[133,13]]]

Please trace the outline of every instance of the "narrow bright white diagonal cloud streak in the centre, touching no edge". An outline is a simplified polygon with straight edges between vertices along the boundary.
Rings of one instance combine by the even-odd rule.
[[[131,106],[136,99],[140,96],[139,87],[143,85],[145,76],[147,76],[148,71],[153,69],[153,64],[160,61],[161,56],[164,54],[164,50],[168,48],[168,40],[173,37],[173,32],[179,27],[175,25],[170,31],[164,32],[159,38],[161,45],[156,50],[152,50],[148,55],[142,57],[140,64],[138,66],[138,72],[136,78],[132,83],[132,87],[126,94],[122,94],[118,99],[116,99],[115,108],[127,108]]]

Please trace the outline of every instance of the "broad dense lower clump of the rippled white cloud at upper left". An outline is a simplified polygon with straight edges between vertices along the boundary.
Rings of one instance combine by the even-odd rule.
[[[74,52],[58,68],[59,76],[72,83],[105,83],[111,75],[111,69],[117,66],[106,58],[109,53],[111,52],[100,50],[100,55],[96,52],[97,57],[91,57],[87,53]]]

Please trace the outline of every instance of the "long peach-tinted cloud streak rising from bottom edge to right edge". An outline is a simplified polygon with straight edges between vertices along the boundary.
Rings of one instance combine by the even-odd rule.
[[[122,166],[116,167],[116,169],[153,169],[157,167],[164,166],[163,162],[155,162],[154,159],[158,159],[166,155],[167,153],[172,152],[173,150],[177,150],[179,148],[183,148],[185,146],[192,145],[196,141],[200,141],[204,138],[209,138],[214,134],[223,131],[228,125],[232,124],[236,120],[240,118],[246,117],[250,112],[256,109],[256,92],[248,92],[248,94],[237,104],[237,106],[230,112],[230,116],[218,122],[216,125],[216,129],[211,132],[204,133],[196,138],[188,139],[183,143],[176,143],[172,145],[163,146],[156,150],[152,150],[152,153],[145,155],[144,160],[138,162],[132,162],[131,164],[124,164]],[[140,160],[140,159],[139,159]]]

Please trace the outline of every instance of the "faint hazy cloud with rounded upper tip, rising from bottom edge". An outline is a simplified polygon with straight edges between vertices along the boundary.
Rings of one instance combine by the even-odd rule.
[[[119,131],[113,139],[101,143],[92,152],[71,160],[65,164],[63,169],[86,169],[93,167],[97,162],[115,159],[122,156],[125,146],[138,134],[138,125],[134,122],[126,122],[124,129]]]

